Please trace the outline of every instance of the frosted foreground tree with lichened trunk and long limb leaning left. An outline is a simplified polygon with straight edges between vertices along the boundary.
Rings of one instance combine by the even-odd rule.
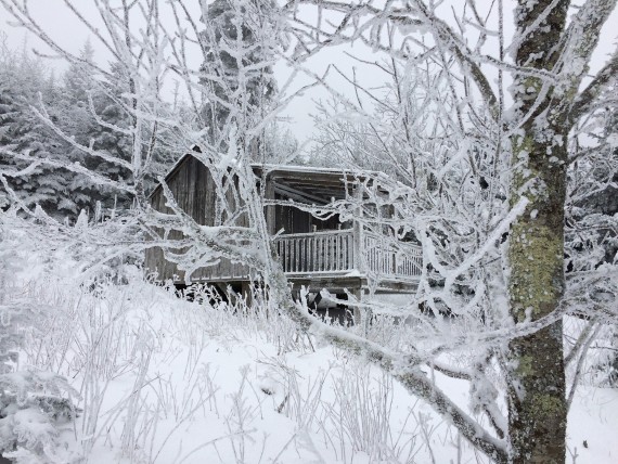
[[[10,7],[17,24],[46,38],[69,61],[77,60],[38,27],[23,2],[0,1]],[[72,4],[68,0],[66,3]],[[364,356],[390,372],[494,461],[564,462],[564,360],[568,362],[579,352],[576,349],[565,357],[562,337],[562,317],[569,312],[563,269],[568,136],[577,121],[592,111],[616,74],[618,62],[614,54],[591,82],[583,81],[601,27],[615,1],[588,0],[572,10],[566,0],[517,2],[508,9],[514,12],[517,33],[510,44],[504,33],[504,1],[497,1],[490,11],[480,11],[473,1],[460,4],[422,0],[388,1],[379,7],[373,1],[298,0],[284,7],[297,46],[289,63],[298,69],[304,57],[320,53],[324,47],[359,40],[397,60],[403,76],[421,64],[439,74],[439,86],[422,86],[419,90],[403,80],[403,90],[429,96],[424,123],[436,130],[422,132],[423,143],[416,147],[413,138],[411,146],[404,146],[413,149],[408,153],[410,164],[401,169],[402,173],[410,172],[408,182],[391,184],[397,193],[387,198],[371,198],[374,204],[392,208],[396,221],[389,227],[395,233],[413,232],[423,244],[425,272],[419,293],[405,310],[430,328],[432,337],[407,340],[405,350],[392,350],[325,326],[292,299],[249,166],[254,143],[278,109],[271,104],[265,115],[245,111],[249,105],[249,77],[257,68],[270,66],[272,60],[263,57],[259,65],[243,60],[250,56],[252,48],[243,43],[240,34],[235,40],[205,41],[202,26],[183,0],[166,4],[178,26],[173,31],[162,25],[158,2],[145,2],[147,8],[142,10],[136,4],[123,2],[121,9],[115,9],[111,2],[100,2],[111,39],[98,36],[128,73],[131,162],[81,146],[89,156],[114,159],[131,169],[128,184],[91,172],[96,182],[134,193],[143,206],[137,222],[152,241],[124,235],[121,246],[162,246],[169,259],[188,271],[220,257],[247,263],[263,276],[270,304],[294,319],[302,331]],[[202,16],[207,17],[209,5],[206,1],[199,4]],[[254,2],[239,4],[245,9],[236,11],[241,18],[246,12],[257,12]],[[300,7],[305,5],[314,5],[319,14],[304,20]],[[453,17],[450,7],[455,12],[453,24],[447,21]],[[269,27],[283,27],[279,13],[273,8],[271,16],[278,21],[271,22],[270,17],[261,28],[252,28],[253,34],[261,35],[256,43],[263,40],[272,46],[269,50],[275,49],[273,41],[280,30]],[[146,34],[131,29],[131,15],[141,15]],[[244,22],[233,24],[237,30]],[[218,96],[217,86],[201,85],[201,79],[213,78],[223,86],[223,79],[215,73],[205,76],[195,72],[188,60],[190,48],[196,46],[206,57],[213,43],[222,44],[237,64],[239,87],[228,86],[231,92],[224,99]],[[156,111],[166,73],[173,73],[185,87],[192,114],[182,124],[160,117]],[[108,73],[102,75],[110,78]],[[508,95],[507,78],[512,83]],[[204,130],[216,126],[204,124],[203,99],[224,103],[230,112],[216,133]],[[353,102],[343,102],[346,111],[362,114]],[[219,202],[214,228],[195,222],[180,210],[166,185],[166,211],[144,206],[144,172],[153,154],[153,144],[156,145],[165,126],[176,131],[186,147],[197,145],[195,156],[214,177]],[[398,136],[397,143],[387,144],[386,153],[399,150],[405,141],[400,137],[405,126],[400,124],[392,132]],[[63,166],[81,170],[74,165]],[[417,166],[423,168],[419,170],[424,179],[421,185],[414,185],[419,179],[412,175]],[[333,207],[345,217],[363,205],[339,203]],[[175,231],[181,234],[172,234]],[[98,239],[100,245],[110,243],[107,237]],[[117,249],[108,246],[108,250]],[[433,285],[432,280],[440,281],[439,285]],[[584,301],[591,298],[589,294],[578,296]],[[452,332],[443,331],[446,326],[440,326],[438,318],[432,320],[416,310],[421,304],[436,312],[448,308],[461,318],[466,330],[453,337]],[[576,346],[581,345],[585,339]],[[471,362],[464,366],[446,362],[449,353],[468,346],[474,355]],[[467,381],[472,409],[480,418],[458,407],[427,371]],[[506,390],[502,397],[506,410],[500,407],[502,388]]]

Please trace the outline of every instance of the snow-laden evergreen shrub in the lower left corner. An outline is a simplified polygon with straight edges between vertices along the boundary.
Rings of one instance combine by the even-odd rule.
[[[41,337],[39,315],[49,308],[14,282],[16,249],[15,237],[0,224],[0,453],[17,463],[55,463],[62,431],[76,417],[76,391],[55,373],[22,365],[26,335]]]

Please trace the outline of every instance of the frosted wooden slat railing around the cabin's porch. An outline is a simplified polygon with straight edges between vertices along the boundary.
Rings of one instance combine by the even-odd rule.
[[[276,253],[286,273],[359,271],[377,278],[414,280],[422,272],[421,247],[355,230],[280,235]],[[361,249],[356,249],[360,247]]]

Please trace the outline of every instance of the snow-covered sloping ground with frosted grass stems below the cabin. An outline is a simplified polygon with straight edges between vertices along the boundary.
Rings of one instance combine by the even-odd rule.
[[[82,410],[59,462],[487,463],[422,400],[276,313],[214,309],[143,282],[79,287],[63,250],[21,247],[5,292],[40,308],[22,369],[64,375]],[[436,374],[466,408],[466,384]],[[618,462],[618,390],[583,385],[574,463]]]

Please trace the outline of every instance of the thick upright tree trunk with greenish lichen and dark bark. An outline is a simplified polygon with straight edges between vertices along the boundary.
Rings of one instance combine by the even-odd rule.
[[[520,2],[517,29],[524,34],[548,12],[551,0]],[[552,70],[551,47],[564,30],[568,1],[557,1],[546,18],[519,44],[519,66]],[[564,293],[564,203],[566,129],[564,100],[539,77],[518,75],[514,99],[523,121],[512,137],[512,202],[529,199],[511,231],[510,302],[517,322],[555,311]],[[564,96],[563,96],[564,99]],[[562,321],[510,344],[508,425],[513,463],[564,463],[567,405]]]

